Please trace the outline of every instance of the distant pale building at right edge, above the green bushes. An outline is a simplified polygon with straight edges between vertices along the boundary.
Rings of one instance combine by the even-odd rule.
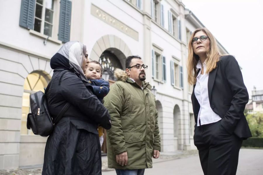
[[[248,113],[263,112],[263,90],[256,90],[254,86],[252,90],[252,100],[245,107]]]

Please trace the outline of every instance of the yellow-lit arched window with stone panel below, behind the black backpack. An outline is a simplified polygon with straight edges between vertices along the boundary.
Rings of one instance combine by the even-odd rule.
[[[36,136],[31,129],[27,129],[27,114],[30,109],[30,94],[37,91],[44,92],[51,76],[44,71],[33,71],[24,81],[22,98],[22,117],[20,130],[19,166],[39,165],[44,161],[44,150],[47,137]],[[37,158],[35,156],[37,155]]]

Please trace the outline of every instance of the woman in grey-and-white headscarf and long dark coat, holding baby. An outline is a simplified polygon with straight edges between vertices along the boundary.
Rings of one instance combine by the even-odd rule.
[[[42,174],[101,174],[97,127],[110,129],[111,122],[84,75],[85,56],[86,46],[70,41],[51,58],[49,112],[56,120],[65,104],[70,106],[47,139]]]

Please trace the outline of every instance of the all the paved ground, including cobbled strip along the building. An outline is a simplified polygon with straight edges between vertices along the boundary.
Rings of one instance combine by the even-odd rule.
[[[107,167],[107,157],[102,157],[102,175],[115,175]],[[241,149],[237,175],[263,175],[263,149]],[[0,170],[1,175],[41,175],[41,168]],[[145,175],[203,175],[197,150],[161,153],[153,159],[153,168],[146,169]]]

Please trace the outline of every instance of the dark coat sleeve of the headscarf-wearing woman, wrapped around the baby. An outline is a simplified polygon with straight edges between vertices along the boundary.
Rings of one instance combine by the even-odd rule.
[[[105,129],[110,129],[111,122],[108,110],[95,95],[89,92],[76,74],[73,72],[66,73],[60,86],[60,94],[66,101],[79,108],[82,113]]]

